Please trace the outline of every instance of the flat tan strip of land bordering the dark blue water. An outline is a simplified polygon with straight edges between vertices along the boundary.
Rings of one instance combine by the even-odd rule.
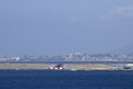
[[[57,63],[0,63],[0,70],[51,70],[50,67]],[[124,69],[123,65],[93,65],[93,63],[70,63],[64,65],[63,70],[121,70],[121,71],[133,71],[133,69]]]

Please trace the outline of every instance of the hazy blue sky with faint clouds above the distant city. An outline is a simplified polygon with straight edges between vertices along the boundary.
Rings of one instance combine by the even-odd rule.
[[[0,55],[113,53],[132,23],[133,0],[0,0]]]

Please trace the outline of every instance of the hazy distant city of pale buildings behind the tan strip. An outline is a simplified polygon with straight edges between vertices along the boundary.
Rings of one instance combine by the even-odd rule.
[[[133,53],[111,55],[111,53],[65,53],[60,56],[0,56],[3,61],[133,61]]]

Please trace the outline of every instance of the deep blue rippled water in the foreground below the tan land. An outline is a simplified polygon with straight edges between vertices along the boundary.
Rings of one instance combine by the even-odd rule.
[[[0,89],[133,89],[133,71],[0,70]]]

